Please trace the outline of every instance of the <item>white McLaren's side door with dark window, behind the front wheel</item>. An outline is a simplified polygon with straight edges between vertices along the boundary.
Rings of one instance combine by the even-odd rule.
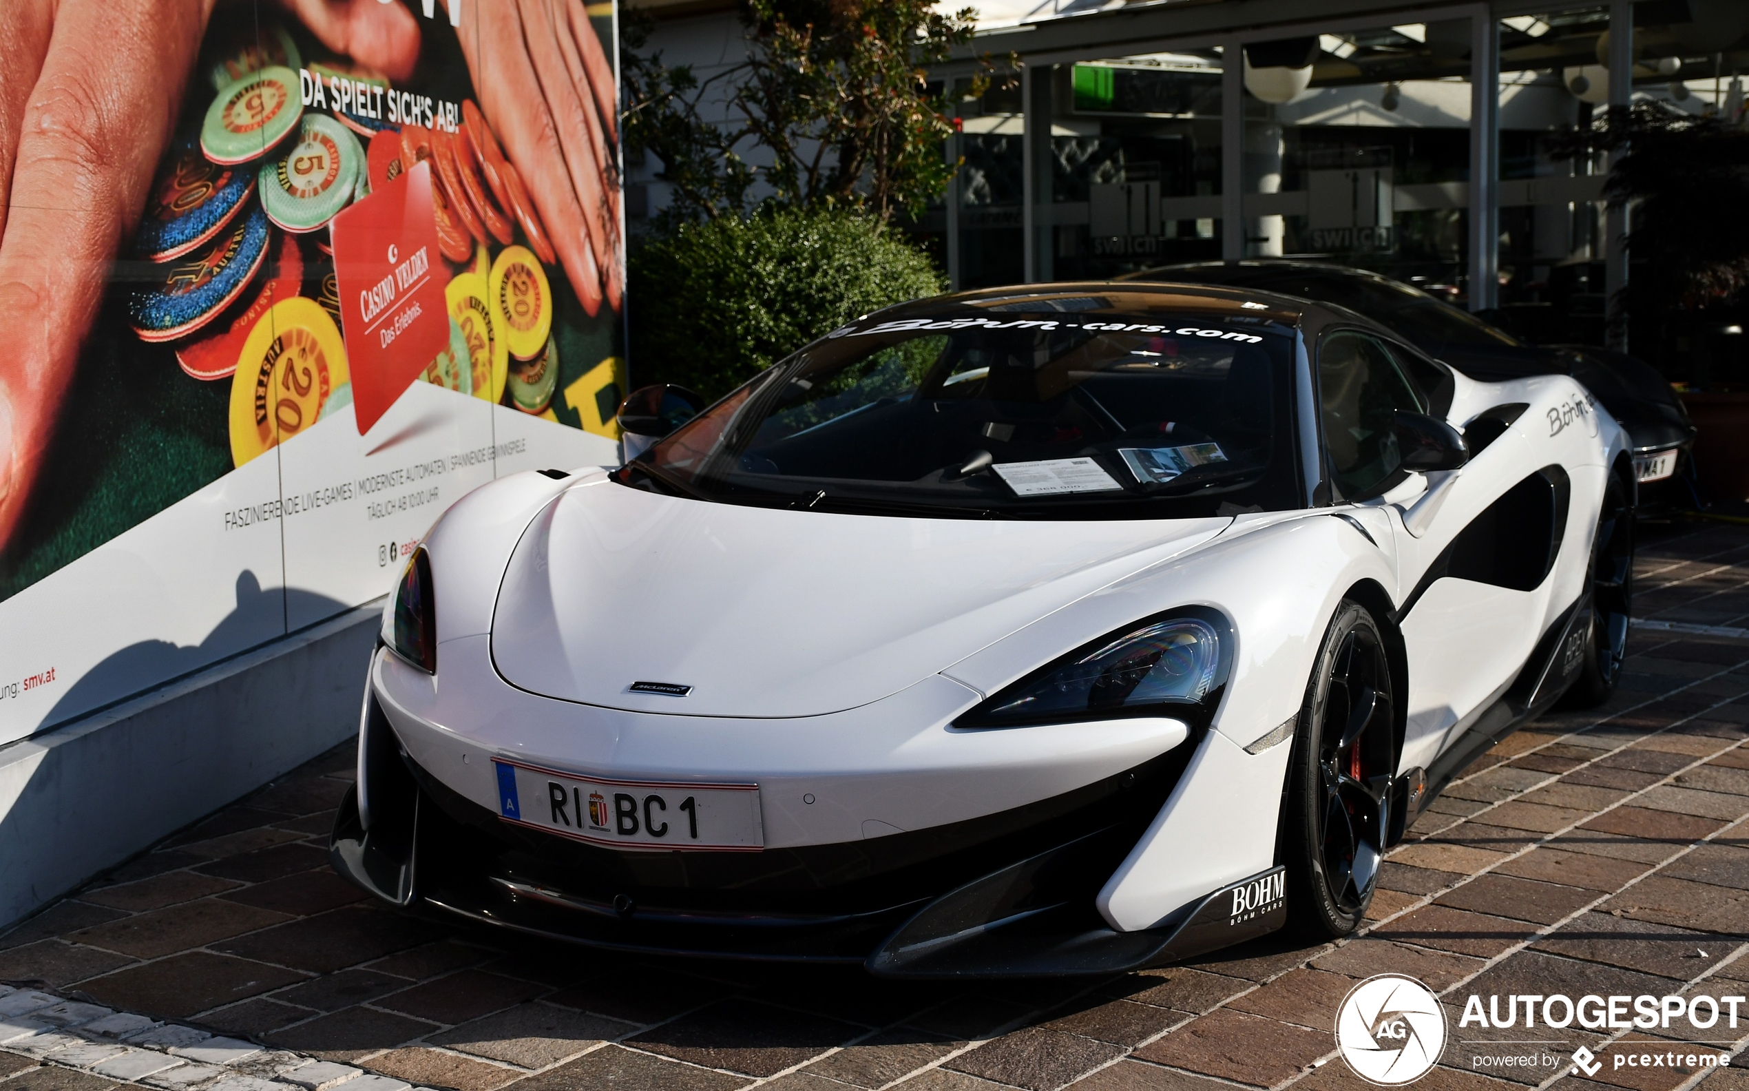
[[[1438,474],[1401,469],[1394,413],[1441,414],[1417,381],[1417,372],[1429,369],[1436,365],[1369,330],[1334,329],[1319,341],[1319,411],[1333,498],[1357,514],[1382,516],[1390,528],[1397,624],[1410,664],[1404,769],[1431,764],[1466,717],[1511,682],[1536,640],[1534,631],[1527,635],[1527,603],[1518,601],[1523,593],[1441,575],[1448,570],[1443,552],[1499,498],[1499,476],[1471,467]]]

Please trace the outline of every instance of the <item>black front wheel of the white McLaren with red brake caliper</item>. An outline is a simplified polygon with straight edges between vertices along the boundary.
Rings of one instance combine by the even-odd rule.
[[[1343,601],[1307,685],[1287,773],[1287,906],[1307,935],[1348,935],[1366,916],[1390,829],[1394,768],[1383,635],[1366,607]]]

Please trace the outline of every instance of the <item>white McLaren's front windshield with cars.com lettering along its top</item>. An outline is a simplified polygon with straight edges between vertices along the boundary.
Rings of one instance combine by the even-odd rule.
[[[1291,329],[1011,308],[834,330],[617,479],[868,514],[1158,519],[1300,505]]]

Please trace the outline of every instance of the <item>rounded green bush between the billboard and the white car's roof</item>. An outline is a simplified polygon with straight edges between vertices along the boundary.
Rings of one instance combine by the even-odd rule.
[[[633,386],[715,400],[808,341],[946,283],[895,229],[854,212],[680,224],[631,254]]]

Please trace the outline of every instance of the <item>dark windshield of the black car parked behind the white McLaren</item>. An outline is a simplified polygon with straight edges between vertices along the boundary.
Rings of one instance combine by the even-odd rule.
[[[1207,271],[1209,276],[1202,276]],[[1182,273],[1186,280],[1214,280],[1244,285],[1317,302],[1334,302],[1366,315],[1422,351],[1439,355],[1450,348],[1501,350],[1520,343],[1469,311],[1460,311],[1406,283],[1361,273],[1305,268],[1231,268],[1161,269],[1154,276]]]

